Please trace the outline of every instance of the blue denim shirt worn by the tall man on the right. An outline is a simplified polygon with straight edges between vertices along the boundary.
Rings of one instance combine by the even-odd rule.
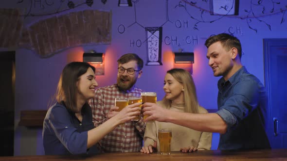
[[[263,84],[244,66],[229,80],[218,81],[216,112],[228,125],[218,149],[270,148],[265,131],[267,96]]]

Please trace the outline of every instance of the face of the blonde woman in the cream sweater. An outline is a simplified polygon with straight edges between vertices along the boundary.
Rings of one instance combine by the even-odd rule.
[[[166,99],[172,100],[175,103],[184,102],[183,85],[169,73],[164,77],[163,90]]]

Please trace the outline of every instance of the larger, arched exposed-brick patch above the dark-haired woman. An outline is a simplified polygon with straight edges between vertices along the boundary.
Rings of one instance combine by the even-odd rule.
[[[109,44],[111,15],[97,10],[73,12],[39,21],[27,31],[29,42],[28,35],[23,32],[20,43],[32,44],[33,49],[45,57],[84,44]]]

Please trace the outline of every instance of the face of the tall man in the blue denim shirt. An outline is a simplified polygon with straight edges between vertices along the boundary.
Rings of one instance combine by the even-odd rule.
[[[207,49],[207,59],[209,59],[209,66],[211,66],[214,76],[223,76],[225,80],[230,78],[230,71],[233,68],[232,50],[226,51],[221,43],[215,42]]]

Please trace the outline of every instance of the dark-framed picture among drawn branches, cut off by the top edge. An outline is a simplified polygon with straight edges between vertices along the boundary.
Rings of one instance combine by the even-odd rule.
[[[239,0],[210,0],[211,15],[238,15]]]

